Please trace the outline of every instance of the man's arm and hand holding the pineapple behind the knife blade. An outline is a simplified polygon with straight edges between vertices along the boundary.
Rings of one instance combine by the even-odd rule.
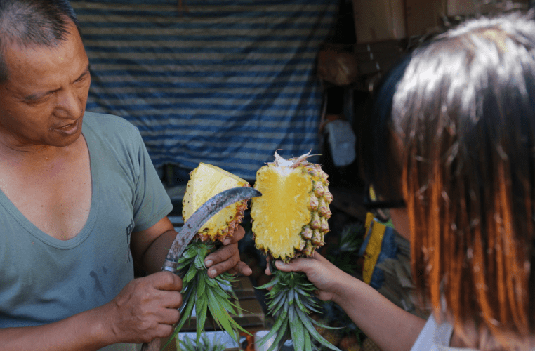
[[[132,233],[131,251],[134,261],[149,273],[159,272],[176,234],[167,217],[161,218],[147,230]],[[239,259],[238,241],[244,234],[244,228],[238,226],[232,237],[225,239],[220,249],[206,256],[204,263],[209,267],[209,277],[216,277],[226,271],[244,275],[252,273],[251,268]]]

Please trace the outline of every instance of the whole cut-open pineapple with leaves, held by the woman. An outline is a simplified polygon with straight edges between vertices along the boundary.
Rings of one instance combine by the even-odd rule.
[[[282,272],[275,269],[276,259],[289,262],[296,257],[308,257],[324,243],[329,232],[327,220],[331,216],[327,175],[321,166],[312,164],[304,154],[284,159],[275,152],[275,161],[256,173],[256,190],[262,193],[251,201],[253,234],[257,249],[270,257],[274,279],[259,289],[268,292],[268,312],[275,318],[270,333],[257,342],[263,345],[275,337],[270,350],[280,348],[291,337],[297,351],[315,350],[312,338],[331,350],[331,345],[315,329],[324,326],[310,317],[318,303],[313,292],[315,286],[303,272]]]

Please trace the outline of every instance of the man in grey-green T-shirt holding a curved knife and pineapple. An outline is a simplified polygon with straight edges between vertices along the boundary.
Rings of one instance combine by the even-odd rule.
[[[90,82],[67,0],[0,0],[2,350],[133,350],[179,319],[182,282],[159,272],[171,201],[137,128],[85,111]],[[243,235],[211,277],[251,274]]]

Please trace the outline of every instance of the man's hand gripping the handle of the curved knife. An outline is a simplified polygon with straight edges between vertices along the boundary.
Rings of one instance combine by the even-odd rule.
[[[182,280],[170,272],[134,279],[103,306],[116,343],[148,343],[173,333],[182,305]]]

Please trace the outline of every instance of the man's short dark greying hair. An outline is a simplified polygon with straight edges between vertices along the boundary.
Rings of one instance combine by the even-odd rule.
[[[67,27],[79,22],[67,0],[0,1],[0,84],[8,80],[4,54],[9,45],[57,46],[65,40]]]

